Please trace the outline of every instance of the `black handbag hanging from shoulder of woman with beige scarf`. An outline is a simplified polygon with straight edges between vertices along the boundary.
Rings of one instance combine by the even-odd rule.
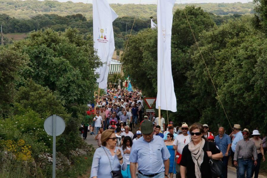
[[[209,151],[209,142],[207,142],[207,147]],[[209,167],[212,178],[217,178],[222,175],[223,163],[221,160],[214,160],[212,158],[209,158]]]

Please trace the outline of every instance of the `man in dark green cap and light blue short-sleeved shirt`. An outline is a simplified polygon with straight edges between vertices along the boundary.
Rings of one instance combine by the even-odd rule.
[[[138,163],[138,177],[168,177],[171,155],[163,139],[154,135],[150,120],[144,120],[141,132],[143,136],[136,140],[131,148],[129,158],[131,177],[136,177],[136,163]]]

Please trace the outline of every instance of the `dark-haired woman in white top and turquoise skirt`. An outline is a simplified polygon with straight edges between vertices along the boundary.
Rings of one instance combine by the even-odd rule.
[[[127,169],[125,171],[121,171],[123,178],[131,178],[131,173],[130,173],[130,153],[131,153],[131,147],[133,146],[133,141],[131,137],[125,136],[123,139],[123,144],[121,146],[125,158],[125,163],[127,164]]]

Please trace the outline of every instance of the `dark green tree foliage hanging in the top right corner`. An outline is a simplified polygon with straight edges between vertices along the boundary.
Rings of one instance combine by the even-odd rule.
[[[253,0],[255,3],[255,23],[262,28],[263,32],[267,31],[267,0]]]

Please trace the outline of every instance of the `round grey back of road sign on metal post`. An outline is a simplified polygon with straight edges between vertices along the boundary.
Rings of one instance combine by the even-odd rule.
[[[56,136],[59,136],[65,130],[65,121],[58,115],[54,115],[54,119],[56,120]],[[44,128],[47,134],[53,136],[53,115],[46,118]]]

